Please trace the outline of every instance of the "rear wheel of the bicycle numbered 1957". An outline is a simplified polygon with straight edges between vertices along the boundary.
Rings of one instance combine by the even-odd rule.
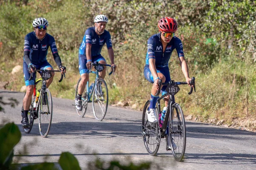
[[[150,100],[148,100],[145,103],[145,106],[143,108],[143,114],[142,114],[143,142],[147,152],[151,156],[155,156],[160,147],[160,141],[161,141],[160,128],[159,128],[158,121],[157,123],[148,122],[148,115],[146,114],[146,112],[148,111],[149,105],[150,105]],[[158,118],[159,113],[158,113],[157,106],[156,106],[156,113]]]

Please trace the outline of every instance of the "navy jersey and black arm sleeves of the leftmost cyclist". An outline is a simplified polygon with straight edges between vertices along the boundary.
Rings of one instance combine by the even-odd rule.
[[[50,34],[46,34],[43,40],[37,39],[34,31],[26,34],[24,41],[24,54],[29,52],[29,59],[32,64],[40,64],[47,61],[46,56],[49,47],[52,50],[52,55],[54,57],[58,56],[55,40]],[[27,61],[25,58],[24,60]],[[55,59],[55,61],[58,65],[61,65],[60,59],[58,59],[58,61]]]

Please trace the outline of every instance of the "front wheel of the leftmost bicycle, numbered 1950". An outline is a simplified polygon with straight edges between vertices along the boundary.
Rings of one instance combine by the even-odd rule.
[[[41,136],[46,137],[52,124],[52,95],[48,88],[41,92],[38,105],[39,131]]]

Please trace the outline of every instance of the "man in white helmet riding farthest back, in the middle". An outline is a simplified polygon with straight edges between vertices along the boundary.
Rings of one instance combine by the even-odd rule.
[[[81,83],[79,83],[78,95],[76,96],[76,109],[79,111],[82,109],[81,96],[84,92],[86,83],[89,80],[91,63],[98,61],[101,64],[106,64],[106,60],[100,54],[105,43],[107,44],[111,66],[116,68],[111,35],[105,30],[107,23],[108,18],[105,15],[97,15],[94,19],[94,27],[90,27],[85,31],[83,41],[79,48],[79,73],[81,75]],[[99,76],[104,79],[105,75],[106,69],[103,69],[103,71],[99,73]]]

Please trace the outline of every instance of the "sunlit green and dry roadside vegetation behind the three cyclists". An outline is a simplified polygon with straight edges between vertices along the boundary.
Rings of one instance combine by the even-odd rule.
[[[106,77],[110,104],[143,108],[151,90],[143,75],[147,40],[158,32],[158,20],[170,16],[178,23],[175,35],[183,42],[190,77],[196,78],[196,93],[189,96],[189,87],[181,86],[176,97],[188,119],[256,130],[256,1],[251,0],[0,0],[0,82],[20,91],[23,72],[12,74],[12,68],[22,66],[32,21],[45,17],[67,67],[67,78],[58,83],[56,74],[50,90],[73,99],[79,46],[97,14],[109,18],[106,29],[118,67]],[[109,61],[106,47],[102,55]],[[47,58],[57,69],[50,51]],[[185,81],[175,51],[169,68],[172,79]]]

